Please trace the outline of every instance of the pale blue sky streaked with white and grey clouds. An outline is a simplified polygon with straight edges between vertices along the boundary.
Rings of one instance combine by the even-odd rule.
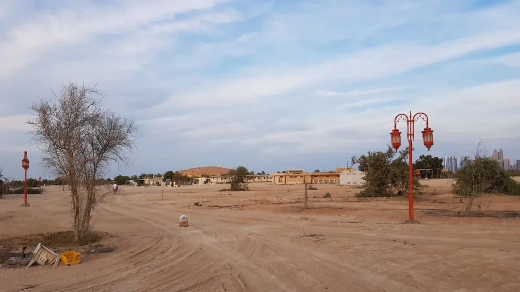
[[[255,172],[346,167],[424,112],[414,157],[520,159],[520,1],[0,0],[0,167],[39,165],[28,107],[97,84],[137,121],[131,166]],[[406,141],[406,123],[397,127]]]

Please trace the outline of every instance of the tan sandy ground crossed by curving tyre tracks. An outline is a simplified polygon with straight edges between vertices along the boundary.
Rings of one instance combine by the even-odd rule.
[[[449,180],[425,183],[436,195],[415,203],[421,224],[402,223],[406,198],[356,199],[359,189],[339,185],[308,191],[309,209],[302,185],[122,187],[93,219],[116,251],[70,267],[0,269],[0,291],[519,291],[520,220],[443,216],[464,200]],[[22,202],[0,200],[0,236],[70,229],[61,188]],[[518,197],[475,204],[520,210]],[[178,227],[180,215],[189,227]]]

